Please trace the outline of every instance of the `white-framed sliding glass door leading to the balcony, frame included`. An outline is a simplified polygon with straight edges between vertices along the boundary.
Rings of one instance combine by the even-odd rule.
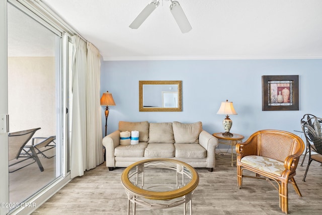
[[[29,214],[70,181],[66,30],[42,2],[0,0],[0,214]]]

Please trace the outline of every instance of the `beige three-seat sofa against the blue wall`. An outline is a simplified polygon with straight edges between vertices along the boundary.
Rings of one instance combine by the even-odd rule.
[[[132,130],[139,131],[139,143],[121,145],[120,133]],[[208,168],[212,172],[218,139],[203,130],[201,122],[120,121],[119,129],[103,138],[103,145],[106,166],[110,171],[148,158],[172,158],[195,168]]]

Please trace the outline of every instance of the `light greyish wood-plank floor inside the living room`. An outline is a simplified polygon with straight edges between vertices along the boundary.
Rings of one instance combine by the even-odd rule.
[[[302,181],[303,167],[297,167],[295,180],[299,197],[289,185],[289,214],[321,214],[322,167],[312,162]],[[127,214],[127,196],[121,184],[124,168],[109,172],[105,163],[74,178],[33,214]],[[214,172],[197,168],[200,182],[193,195],[194,214],[283,214],[278,191],[265,180],[244,178],[243,188],[236,188],[236,167],[216,159]],[[137,206],[137,214],[183,214],[183,206],[150,210]]]

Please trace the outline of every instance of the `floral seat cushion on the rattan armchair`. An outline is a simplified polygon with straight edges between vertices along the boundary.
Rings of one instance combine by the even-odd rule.
[[[278,176],[281,176],[285,170],[284,162],[262,156],[245,156],[240,160],[240,163]]]

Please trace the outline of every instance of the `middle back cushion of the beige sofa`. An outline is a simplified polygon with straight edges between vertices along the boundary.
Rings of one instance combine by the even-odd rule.
[[[174,144],[172,122],[150,123],[149,125],[149,144],[162,142],[165,144]]]

